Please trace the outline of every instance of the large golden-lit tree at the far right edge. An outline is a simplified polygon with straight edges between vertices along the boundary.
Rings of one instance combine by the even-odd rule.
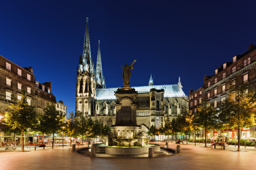
[[[225,127],[237,129],[238,147],[240,151],[241,127],[255,125],[255,94],[247,84],[230,87],[227,99],[221,103],[219,119]]]

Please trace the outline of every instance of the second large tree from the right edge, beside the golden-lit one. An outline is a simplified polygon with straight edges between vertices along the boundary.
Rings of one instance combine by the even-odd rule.
[[[217,125],[217,111],[213,108],[212,103],[202,101],[202,104],[197,106],[198,113],[196,113],[196,125],[205,129],[205,147],[207,139],[207,130],[216,127]]]

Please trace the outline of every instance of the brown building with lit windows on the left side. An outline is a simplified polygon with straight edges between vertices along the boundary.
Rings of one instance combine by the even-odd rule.
[[[35,106],[36,113],[44,113],[45,106],[56,103],[55,96],[51,93],[51,86],[51,82],[35,81],[32,67],[20,67],[0,55],[0,115],[3,116],[6,108],[11,103],[15,104],[16,99],[21,99],[22,90],[25,91],[28,103]],[[12,138],[12,134],[1,132],[0,146],[3,146],[6,139],[10,142]],[[26,140],[27,143],[28,140],[34,142],[32,135]]]

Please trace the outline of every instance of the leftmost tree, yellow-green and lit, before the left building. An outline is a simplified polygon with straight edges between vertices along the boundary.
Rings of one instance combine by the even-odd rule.
[[[12,104],[4,114],[3,124],[10,128],[10,131],[17,132],[22,136],[22,152],[24,152],[24,133],[35,129],[38,124],[36,112],[33,106],[29,106],[25,91],[22,91],[22,98],[16,99],[17,104]]]

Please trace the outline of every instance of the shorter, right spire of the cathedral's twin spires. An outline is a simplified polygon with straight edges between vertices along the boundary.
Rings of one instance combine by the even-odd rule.
[[[97,64],[96,64],[96,83],[97,88],[102,89],[105,88],[104,85],[104,76],[102,73],[102,63],[101,63],[101,53],[100,53],[100,40],[98,46],[98,55],[97,55]]]

